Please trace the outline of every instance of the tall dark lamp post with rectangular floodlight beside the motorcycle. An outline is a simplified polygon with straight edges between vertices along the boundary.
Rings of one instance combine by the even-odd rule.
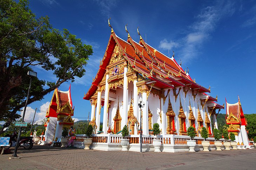
[[[30,87],[31,87],[32,77],[36,77],[36,76],[37,76],[37,73],[36,73],[36,72],[33,72],[33,71],[28,71],[28,75],[29,75],[29,77],[30,77],[30,81],[29,81],[27,99],[26,99],[26,103],[25,103],[24,111],[23,111],[23,115],[22,115],[22,122],[24,122],[24,117],[25,117],[25,113],[26,113],[26,108],[27,108],[27,103],[28,103],[28,96],[29,96],[29,91],[30,91]],[[20,127],[20,130],[19,130],[19,134],[18,134],[16,146],[15,146],[15,149],[14,149],[13,157],[18,157],[18,156],[17,156],[17,150],[18,150],[19,143],[20,143],[21,130],[22,130],[22,127]]]

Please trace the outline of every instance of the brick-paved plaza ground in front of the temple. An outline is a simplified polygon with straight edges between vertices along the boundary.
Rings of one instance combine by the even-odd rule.
[[[13,153],[14,148],[11,152]],[[0,155],[0,169],[232,169],[256,167],[256,149],[199,151],[196,153],[154,153],[99,151],[34,145],[19,148],[20,159]],[[131,163],[133,162],[133,164]]]

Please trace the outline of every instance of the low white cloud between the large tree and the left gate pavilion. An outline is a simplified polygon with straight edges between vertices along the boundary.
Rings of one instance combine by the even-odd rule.
[[[35,109],[31,108],[31,107],[27,107],[26,109],[26,113],[25,113],[25,117],[24,117],[24,121],[28,122],[28,123],[32,123],[33,121],[33,117],[35,114],[35,119],[34,119],[34,123],[36,121],[38,121],[38,124],[41,124],[41,120],[43,120],[45,118],[46,115],[46,111],[47,108],[49,107],[50,102],[46,102],[43,103],[37,110],[35,113]],[[23,110],[24,108],[22,108]],[[21,116],[23,115],[23,111],[20,112]]]

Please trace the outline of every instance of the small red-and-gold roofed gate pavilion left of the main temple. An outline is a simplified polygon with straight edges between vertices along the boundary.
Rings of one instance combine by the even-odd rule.
[[[71,85],[70,85],[71,86]],[[53,97],[46,112],[47,122],[45,123],[45,141],[41,145],[47,145],[52,141],[57,141],[61,138],[63,128],[70,128],[74,125],[74,108],[72,108],[72,98],[70,92],[61,91],[56,88],[53,92]]]

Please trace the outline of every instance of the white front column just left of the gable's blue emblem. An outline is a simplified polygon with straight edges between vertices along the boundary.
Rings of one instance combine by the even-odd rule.
[[[108,71],[107,71],[108,72]],[[106,74],[106,87],[105,87],[105,99],[104,99],[104,112],[103,112],[103,125],[102,125],[102,131],[104,134],[107,134],[108,132],[108,77],[109,74]]]

